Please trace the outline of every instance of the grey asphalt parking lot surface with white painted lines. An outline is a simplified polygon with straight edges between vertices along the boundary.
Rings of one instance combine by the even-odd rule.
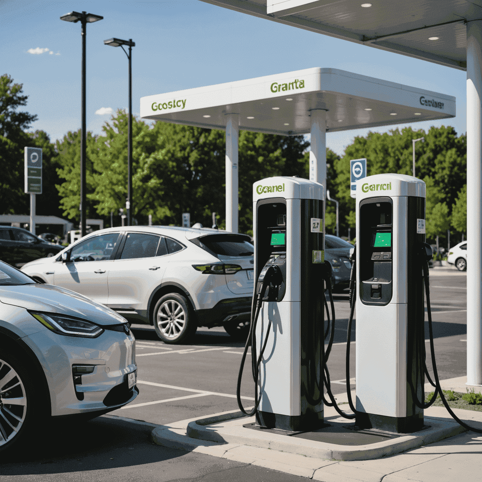
[[[466,277],[430,270],[435,350],[441,379],[466,373]],[[335,295],[337,325],[329,368],[334,393],[345,391],[348,295]],[[426,323],[427,324],[427,323]],[[5,481],[302,481],[292,476],[150,442],[149,424],[237,410],[236,381],[243,344],[222,328],[198,330],[191,345],[165,345],[154,330],[133,325],[139,396],[90,422],[55,425],[0,468]],[[426,327],[427,328],[427,327]],[[427,338],[428,336],[426,336]],[[355,373],[356,340],[351,345]],[[254,400],[247,363],[241,395]],[[352,380],[354,382],[354,380]],[[354,386],[353,386],[354,387]]]

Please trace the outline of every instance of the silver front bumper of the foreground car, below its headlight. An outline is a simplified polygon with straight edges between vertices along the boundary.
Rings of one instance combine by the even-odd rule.
[[[132,333],[105,330],[89,339],[57,335],[46,329],[24,341],[36,352],[44,369],[52,415],[106,413],[131,402],[138,394],[135,385],[128,387],[128,374],[137,369]],[[94,371],[82,374],[75,382],[73,365],[94,366]]]

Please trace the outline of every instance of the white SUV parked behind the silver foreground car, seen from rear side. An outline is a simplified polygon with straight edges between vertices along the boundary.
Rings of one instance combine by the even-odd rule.
[[[254,285],[250,241],[217,229],[108,228],[22,271],[88,296],[131,322],[154,325],[165,343],[186,342],[198,326],[224,326],[243,338]]]

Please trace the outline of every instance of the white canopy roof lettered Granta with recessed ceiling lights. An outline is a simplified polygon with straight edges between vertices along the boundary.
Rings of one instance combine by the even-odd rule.
[[[141,98],[143,119],[225,129],[310,132],[310,110],[325,109],[327,132],[455,117],[455,97],[333,68],[308,68]]]

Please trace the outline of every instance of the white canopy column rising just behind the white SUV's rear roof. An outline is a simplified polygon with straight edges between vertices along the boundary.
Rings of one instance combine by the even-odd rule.
[[[239,114],[226,114],[226,230],[238,232]]]

